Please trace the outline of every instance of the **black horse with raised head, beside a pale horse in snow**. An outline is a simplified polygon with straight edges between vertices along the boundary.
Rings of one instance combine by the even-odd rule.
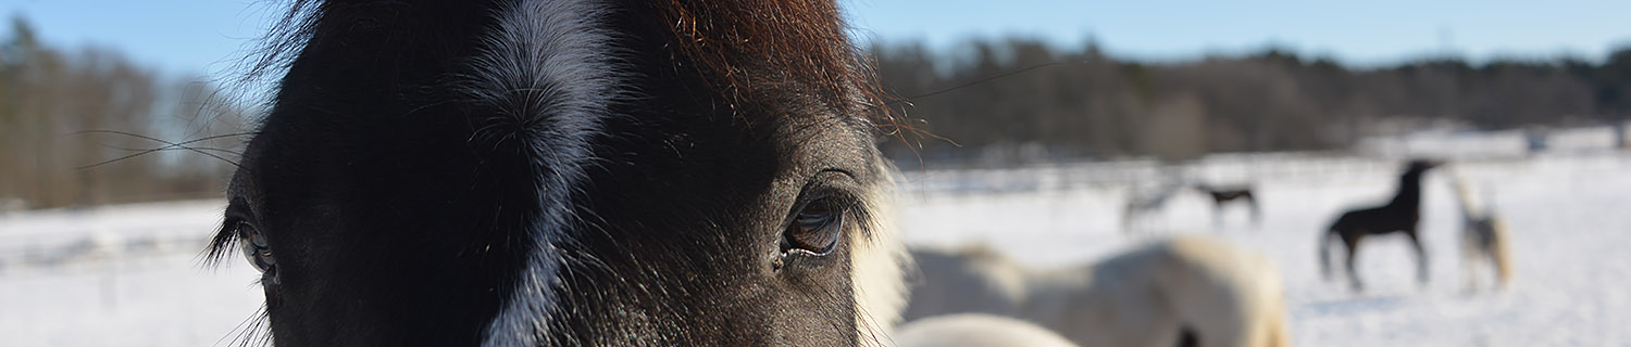
[[[1439,161],[1432,160],[1411,160],[1404,166],[1404,174],[1399,174],[1399,186],[1398,192],[1393,194],[1393,200],[1380,207],[1350,210],[1342,213],[1336,223],[1331,223],[1331,228],[1326,228],[1324,236],[1319,238],[1321,275],[1328,280],[1331,279],[1331,236],[1337,236],[1342,239],[1342,246],[1347,246],[1346,264],[1352,288],[1364,290],[1365,285],[1354,270],[1354,256],[1359,253],[1359,241],[1372,235],[1404,233],[1416,249],[1416,275],[1421,283],[1427,283],[1427,253],[1422,249],[1416,225],[1421,222],[1422,174],[1439,165]]]

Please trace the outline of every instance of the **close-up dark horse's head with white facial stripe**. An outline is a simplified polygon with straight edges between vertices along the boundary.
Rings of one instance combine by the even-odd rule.
[[[832,2],[297,0],[212,254],[279,345],[861,345],[892,117]]]

